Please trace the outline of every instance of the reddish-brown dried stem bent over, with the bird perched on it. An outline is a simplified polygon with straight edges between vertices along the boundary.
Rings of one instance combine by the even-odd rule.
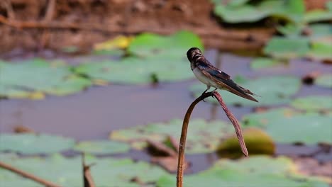
[[[211,91],[204,94],[201,94],[192,104],[189,106],[186,115],[184,115],[184,120],[182,124],[182,132],[179,142],[179,158],[177,162],[177,187],[182,187],[182,181],[183,181],[183,164],[184,164],[184,149],[186,147],[186,138],[187,138],[187,130],[190,120],[190,115],[192,115],[192,111],[194,110],[194,107],[199,103],[199,101],[202,101],[204,98],[208,98],[210,96],[213,96],[218,100],[221,107],[223,108],[223,111],[225,111],[227,117],[229,120],[231,120],[231,123],[233,124],[236,135],[238,137],[238,142],[240,143],[240,147],[242,149],[243,154],[245,157],[248,157],[248,150],[247,147],[245,147],[245,142],[243,140],[243,135],[241,132],[240,125],[238,124],[238,120],[236,120],[235,116],[231,113],[231,111],[228,110],[226,104],[223,102],[223,98],[221,98],[220,94],[218,94],[217,91]]]

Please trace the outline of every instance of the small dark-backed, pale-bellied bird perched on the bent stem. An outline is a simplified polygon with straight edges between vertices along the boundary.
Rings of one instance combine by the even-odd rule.
[[[214,67],[203,55],[201,55],[201,50],[199,50],[199,48],[190,48],[187,52],[187,57],[194,75],[199,81],[206,84],[206,90],[203,94],[206,93],[210,87],[214,87],[214,91],[216,91],[216,89],[223,89],[240,97],[258,102],[252,97],[257,95],[253,94],[253,92],[248,89],[238,86],[228,74],[221,72],[221,70]]]

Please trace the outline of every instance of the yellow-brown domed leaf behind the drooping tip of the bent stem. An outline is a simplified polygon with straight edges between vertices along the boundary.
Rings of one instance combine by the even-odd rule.
[[[243,137],[245,145],[248,148],[250,155],[253,154],[275,154],[275,144],[272,138],[264,131],[258,128],[246,128],[243,130]],[[235,157],[243,155],[240,146],[238,145],[238,137],[233,135],[221,142],[217,148],[218,154],[223,157],[224,154],[231,154]]]

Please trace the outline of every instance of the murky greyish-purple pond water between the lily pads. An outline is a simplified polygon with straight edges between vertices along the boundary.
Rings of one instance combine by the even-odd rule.
[[[216,62],[218,58],[216,64],[232,77],[238,74],[253,78],[272,74],[293,74],[304,77],[315,71],[332,72],[332,66],[306,60],[293,60],[284,67],[254,72],[249,67],[250,57],[237,57],[231,54],[217,55],[216,50],[208,50],[206,57],[211,62]],[[189,63],[188,71],[190,71]],[[197,80],[193,79],[177,83],[163,83],[158,86],[94,86],[73,96],[48,96],[43,101],[2,100],[0,101],[0,132],[12,132],[15,126],[24,125],[36,132],[65,135],[77,140],[106,139],[111,130],[167,121],[172,118],[183,118],[187,107],[194,100],[188,89],[195,82]],[[297,95],[310,94],[327,95],[332,92],[331,89],[304,85]],[[238,119],[253,111],[253,108],[233,106],[229,106],[229,108]],[[204,102],[198,104],[192,113],[192,118],[228,120],[220,107]],[[180,129],[181,127],[179,127]],[[317,147],[306,147],[304,152],[314,152],[316,149]],[[292,150],[297,149],[292,146],[280,145],[277,147],[277,152],[280,154],[292,154]],[[129,154],[121,155],[121,157],[126,156],[148,159],[143,152],[132,151]],[[325,158],[325,156],[321,157]],[[195,163],[192,171],[199,171],[211,165],[217,157],[214,154],[194,155],[189,156],[188,159],[189,161],[197,159],[201,161],[192,162]]]

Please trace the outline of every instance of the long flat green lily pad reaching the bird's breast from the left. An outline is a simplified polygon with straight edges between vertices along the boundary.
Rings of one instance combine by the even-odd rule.
[[[177,81],[194,77],[187,60],[172,57],[149,57],[147,59],[127,57],[121,62],[81,64],[75,71],[79,74],[87,74],[92,79],[120,84],[152,83],[154,75],[159,81]]]

